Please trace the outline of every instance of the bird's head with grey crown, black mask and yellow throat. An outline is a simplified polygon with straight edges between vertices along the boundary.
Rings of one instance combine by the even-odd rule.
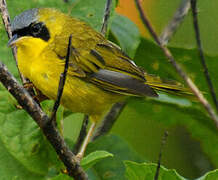
[[[17,15],[12,24],[13,37],[8,45],[37,48],[44,47],[61,34],[68,16],[51,8],[34,8]]]

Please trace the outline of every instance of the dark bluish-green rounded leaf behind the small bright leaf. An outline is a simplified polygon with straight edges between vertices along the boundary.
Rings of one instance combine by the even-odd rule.
[[[104,150],[113,154],[113,158],[106,158],[103,161],[99,161],[89,169],[95,174],[97,179],[125,180],[123,160],[144,161],[127,142],[115,135],[100,137],[90,143],[87,148],[87,153],[97,150]],[[89,172],[89,174],[91,173]]]

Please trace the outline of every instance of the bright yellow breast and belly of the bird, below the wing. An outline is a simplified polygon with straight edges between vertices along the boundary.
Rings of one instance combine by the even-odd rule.
[[[18,67],[25,77],[50,99],[56,99],[63,61],[56,55],[33,56],[18,49]],[[75,76],[67,76],[61,104],[72,112],[81,112],[98,121],[115,102],[124,96],[104,91]]]

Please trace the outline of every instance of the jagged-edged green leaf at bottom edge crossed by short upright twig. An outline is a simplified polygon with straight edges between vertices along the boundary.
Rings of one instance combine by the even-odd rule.
[[[157,166],[153,163],[136,163],[125,161],[126,177],[128,180],[154,179]],[[159,178],[161,180],[185,180],[177,174],[175,170],[168,170],[163,166],[160,167]]]

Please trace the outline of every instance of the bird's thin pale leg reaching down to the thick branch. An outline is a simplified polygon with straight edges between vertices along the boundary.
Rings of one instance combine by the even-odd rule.
[[[83,141],[83,144],[80,148],[79,153],[76,155],[77,159],[80,161],[82,159],[82,157],[84,156],[84,153],[86,151],[86,147],[89,144],[91,137],[93,135],[93,132],[95,130],[96,127],[96,122],[93,122],[89,128],[88,134],[86,135],[85,140]]]

